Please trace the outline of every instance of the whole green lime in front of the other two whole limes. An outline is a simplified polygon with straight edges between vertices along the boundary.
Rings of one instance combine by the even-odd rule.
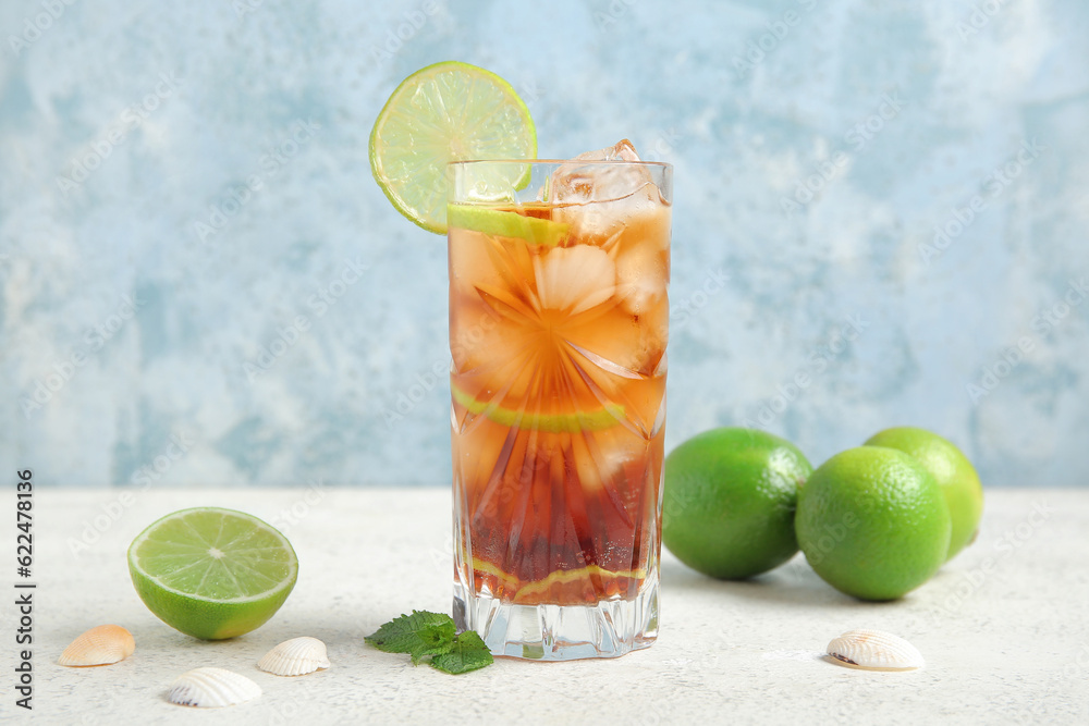
[[[795,528],[825,582],[860,600],[895,600],[945,562],[951,522],[941,487],[915,457],[859,446],[812,472]]]

